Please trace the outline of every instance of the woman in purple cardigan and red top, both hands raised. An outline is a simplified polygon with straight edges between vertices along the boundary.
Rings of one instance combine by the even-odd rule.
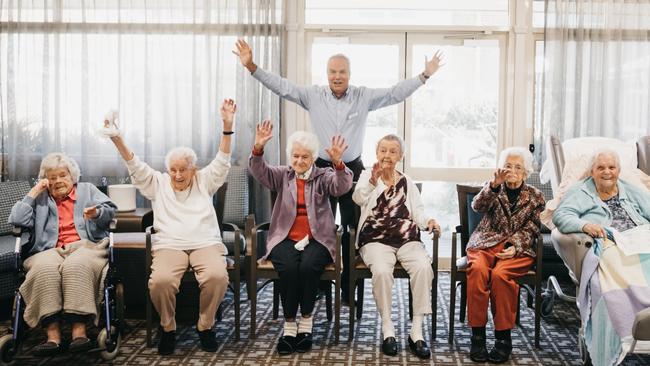
[[[307,352],[312,345],[312,311],[316,302],[320,276],[335,257],[334,216],[329,196],[338,197],[352,188],[352,172],[341,156],[347,146],[340,136],[332,138],[325,152],[333,168],[318,168],[318,139],[297,131],[287,142],[290,166],[268,166],[264,145],[273,136],[273,125],[257,125],[255,146],[248,161],[253,177],[266,188],[277,192],[266,242],[266,255],[280,276],[280,298],[284,313],[284,333],[278,340],[281,355]],[[296,323],[300,306],[301,319]]]

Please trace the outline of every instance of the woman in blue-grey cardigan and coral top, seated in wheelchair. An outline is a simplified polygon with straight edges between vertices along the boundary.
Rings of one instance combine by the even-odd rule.
[[[9,223],[32,232],[20,293],[27,325],[40,323],[47,331],[47,340],[34,350],[41,356],[61,351],[62,320],[72,326],[71,352],[92,347],[86,322],[97,320],[108,226],[117,207],[94,185],[79,183],[79,175],[79,166],[65,154],[47,155],[39,182],[9,216]]]

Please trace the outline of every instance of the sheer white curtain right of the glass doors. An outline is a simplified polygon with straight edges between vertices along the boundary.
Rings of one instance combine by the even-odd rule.
[[[549,134],[562,141],[650,134],[650,0],[546,6],[538,146]]]

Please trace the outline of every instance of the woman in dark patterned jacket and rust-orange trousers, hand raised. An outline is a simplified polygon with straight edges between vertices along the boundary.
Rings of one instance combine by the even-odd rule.
[[[467,243],[467,320],[472,327],[470,359],[503,363],[510,358],[510,330],[519,300],[518,277],[535,263],[535,238],[544,196],[524,181],[533,171],[532,154],[521,147],[503,150],[494,178],[474,197],[483,218]],[[488,353],[488,303],[494,320],[494,347]]]

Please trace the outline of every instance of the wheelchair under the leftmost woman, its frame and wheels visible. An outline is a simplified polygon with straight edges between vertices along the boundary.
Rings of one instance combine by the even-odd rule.
[[[104,278],[104,293],[101,302],[99,327],[96,347],[88,352],[100,352],[104,360],[114,359],[120,350],[124,328],[124,285],[117,276],[113,255],[113,232],[116,222],[113,220],[109,227],[108,271]],[[14,266],[16,270],[17,289],[14,295],[14,311],[12,314],[11,333],[0,337],[0,363],[8,364],[14,360],[20,351],[28,334],[28,326],[23,319],[25,302],[18,291],[25,280],[23,269],[23,254],[21,253],[22,228],[14,227],[13,236],[16,238],[14,247]]]

